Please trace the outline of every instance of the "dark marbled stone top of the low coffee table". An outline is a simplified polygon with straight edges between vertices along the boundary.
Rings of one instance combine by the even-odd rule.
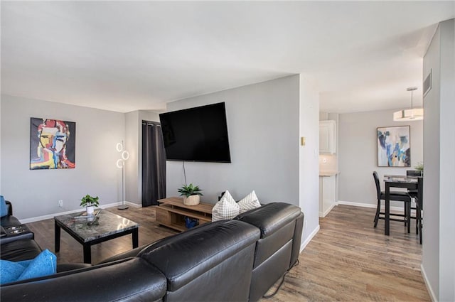
[[[108,210],[99,211],[100,213],[96,217],[87,216],[85,212],[77,212],[55,216],[54,220],[59,222],[60,227],[65,231],[72,232],[79,237],[82,242],[90,242],[139,227],[138,223]]]

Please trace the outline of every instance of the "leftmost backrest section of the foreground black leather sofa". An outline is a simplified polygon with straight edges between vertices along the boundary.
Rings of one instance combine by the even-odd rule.
[[[146,261],[134,258],[93,266],[73,274],[1,286],[1,301],[161,301],[166,277]]]

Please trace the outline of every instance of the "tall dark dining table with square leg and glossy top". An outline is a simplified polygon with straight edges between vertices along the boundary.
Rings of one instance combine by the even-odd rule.
[[[420,176],[384,175],[385,182],[385,235],[390,235],[390,188],[417,190]],[[408,222],[410,223],[410,222]]]

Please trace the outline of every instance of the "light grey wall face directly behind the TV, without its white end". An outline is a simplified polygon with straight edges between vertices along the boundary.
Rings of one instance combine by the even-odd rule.
[[[235,199],[255,190],[262,203],[299,205],[299,76],[168,103],[168,111],[225,102],[232,163],[186,162],[186,178],[216,203],[229,190]],[[167,161],[166,195],[184,183],[182,163]]]

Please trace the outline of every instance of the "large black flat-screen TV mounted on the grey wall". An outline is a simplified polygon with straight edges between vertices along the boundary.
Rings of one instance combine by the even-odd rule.
[[[225,103],[159,114],[168,161],[230,163]]]

